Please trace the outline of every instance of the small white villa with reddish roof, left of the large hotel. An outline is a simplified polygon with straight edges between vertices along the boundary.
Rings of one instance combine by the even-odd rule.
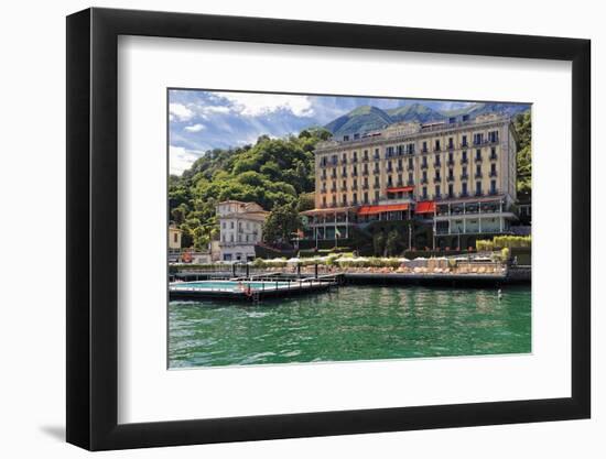
[[[255,259],[268,211],[256,203],[226,200],[217,205],[219,251],[223,261]]]

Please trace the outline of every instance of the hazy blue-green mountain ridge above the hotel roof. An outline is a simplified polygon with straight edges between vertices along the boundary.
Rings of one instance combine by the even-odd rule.
[[[527,103],[496,103],[477,102],[456,110],[435,110],[425,103],[414,102],[402,107],[381,110],[372,106],[361,106],[350,112],[331,121],[324,128],[333,133],[335,138],[353,135],[356,133],[383,129],[397,122],[420,122],[447,121],[452,117],[468,114],[475,118],[483,113],[497,112],[507,116],[515,116],[528,110]]]

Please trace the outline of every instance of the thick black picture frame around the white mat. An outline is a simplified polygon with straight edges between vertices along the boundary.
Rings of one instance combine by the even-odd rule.
[[[572,62],[571,397],[118,424],[119,35]],[[150,11],[67,18],[67,441],[90,450],[587,418],[588,40]]]

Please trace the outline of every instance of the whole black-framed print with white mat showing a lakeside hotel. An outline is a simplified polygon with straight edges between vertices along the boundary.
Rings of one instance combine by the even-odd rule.
[[[585,418],[589,42],[67,18],[67,440]]]

